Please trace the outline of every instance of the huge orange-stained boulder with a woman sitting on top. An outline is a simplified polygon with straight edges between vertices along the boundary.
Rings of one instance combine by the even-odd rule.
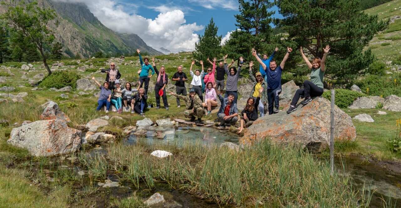
[[[297,110],[287,114],[289,104],[284,110],[258,118],[244,133],[240,144],[253,144],[262,139],[271,139],[275,143],[296,143],[308,149],[322,150],[330,141],[330,101],[316,97]],[[356,137],[352,119],[339,107],[334,108],[334,138],[353,140]]]

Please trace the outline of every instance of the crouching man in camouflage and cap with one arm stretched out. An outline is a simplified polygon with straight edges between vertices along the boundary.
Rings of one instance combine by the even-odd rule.
[[[185,102],[185,117],[190,118],[191,122],[194,122],[196,116],[198,117],[198,120],[196,120],[195,123],[202,123],[202,117],[203,114],[205,114],[205,111],[203,110],[202,100],[199,98],[198,95],[196,95],[194,89],[190,89],[188,96],[177,95],[172,91],[169,91],[169,93],[170,95],[174,95],[175,97],[182,99]]]

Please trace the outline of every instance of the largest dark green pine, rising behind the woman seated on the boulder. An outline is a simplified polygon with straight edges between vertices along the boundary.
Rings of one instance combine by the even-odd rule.
[[[277,0],[277,6],[284,16],[279,26],[288,32],[287,40],[320,58],[322,48],[330,45],[326,75],[344,82],[374,61],[371,50],[363,48],[388,24],[359,11],[359,0]]]

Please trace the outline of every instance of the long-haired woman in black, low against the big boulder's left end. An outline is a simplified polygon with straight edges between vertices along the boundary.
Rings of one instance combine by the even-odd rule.
[[[260,72],[258,72],[260,74]],[[262,78],[263,79],[263,78]],[[259,105],[260,101],[260,95],[263,93],[263,87],[260,87],[258,89],[258,95],[255,98],[250,97],[247,100],[247,104],[245,105],[245,108],[243,111],[241,111],[241,127],[238,128],[238,134],[244,130],[244,124],[245,127],[249,127],[252,125],[253,121],[256,121],[257,119],[257,108]]]

